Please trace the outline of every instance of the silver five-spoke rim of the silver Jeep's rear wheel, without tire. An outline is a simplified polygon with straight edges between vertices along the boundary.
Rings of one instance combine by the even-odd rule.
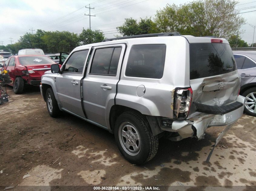
[[[119,126],[118,138],[122,148],[128,154],[135,156],[141,150],[141,139],[138,130],[129,122],[124,122]]]

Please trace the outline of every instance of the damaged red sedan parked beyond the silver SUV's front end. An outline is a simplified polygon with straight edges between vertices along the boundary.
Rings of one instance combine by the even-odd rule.
[[[10,71],[13,83],[9,85],[13,86],[14,93],[21,94],[24,84],[39,86],[41,76],[51,69],[52,64],[56,63],[45,55],[18,55],[9,57],[3,69]]]

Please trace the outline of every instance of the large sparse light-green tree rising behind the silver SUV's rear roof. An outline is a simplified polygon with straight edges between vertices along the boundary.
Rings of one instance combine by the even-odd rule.
[[[169,5],[157,11],[155,23],[161,32],[178,31],[194,36],[228,38],[244,23],[233,0],[198,0]]]

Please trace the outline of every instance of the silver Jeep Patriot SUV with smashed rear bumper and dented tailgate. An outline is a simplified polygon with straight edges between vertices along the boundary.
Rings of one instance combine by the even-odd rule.
[[[40,89],[52,117],[65,111],[114,133],[123,156],[142,164],[161,137],[202,139],[227,125],[217,144],[243,114],[240,81],[227,40],[171,32],[78,46]]]

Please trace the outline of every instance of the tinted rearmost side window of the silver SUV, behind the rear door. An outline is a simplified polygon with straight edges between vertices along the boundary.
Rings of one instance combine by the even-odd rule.
[[[162,78],[165,64],[163,44],[134,45],[126,66],[126,76],[140,78]]]

